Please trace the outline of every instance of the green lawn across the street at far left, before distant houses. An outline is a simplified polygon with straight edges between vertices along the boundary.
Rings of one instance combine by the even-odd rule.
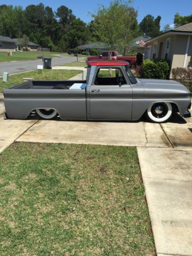
[[[12,52],[12,56],[7,56],[6,52],[0,52],[0,62],[3,61],[20,61],[20,60],[37,60],[37,56],[56,58],[59,52]]]

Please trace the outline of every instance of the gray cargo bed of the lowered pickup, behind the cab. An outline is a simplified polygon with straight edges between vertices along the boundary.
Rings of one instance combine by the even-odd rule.
[[[29,81],[5,89],[6,115],[26,119],[35,109],[51,108],[58,111],[61,119],[84,120],[86,90],[81,87],[82,84],[86,85],[86,81]],[[65,85],[66,88],[53,89],[55,85]],[[70,90],[74,85],[75,90]]]

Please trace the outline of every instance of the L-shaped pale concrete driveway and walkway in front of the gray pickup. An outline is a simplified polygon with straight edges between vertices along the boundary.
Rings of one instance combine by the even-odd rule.
[[[157,255],[191,256],[192,118],[186,121],[179,115],[165,124],[1,115],[0,153],[13,141],[137,146]]]

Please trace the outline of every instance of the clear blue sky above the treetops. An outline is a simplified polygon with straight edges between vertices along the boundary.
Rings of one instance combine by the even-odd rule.
[[[98,4],[108,5],[110,0],[0,0],[0,4],[12,4],[21,5],[25,8],[29,4],[49,5],[54,11],[60,5],[66,5],[69,9],[73,10],[73,13],[77,18],[81,18],[85,22],[91,21],[89,12],[93,13],[98,9]],[[155,18],[157,15],[161,15],[161,28],[167,23],[173,24],[174,14],[179,12],[180,15],[186,16],[192,13],[192,0],[134,0],[133,7],[138,10],[138,22],[147,14],[153,15]]]

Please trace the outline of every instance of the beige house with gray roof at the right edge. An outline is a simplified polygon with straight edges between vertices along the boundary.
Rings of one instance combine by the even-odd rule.
[[[172,68],[192,67],[192,22],[149,39],[145,59],[169,59]]]

